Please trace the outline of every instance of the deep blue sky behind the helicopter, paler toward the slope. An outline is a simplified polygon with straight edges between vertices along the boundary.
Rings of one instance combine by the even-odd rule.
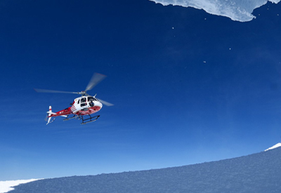
[[[0,180],[164,168],[281,140],[281,5],[234,22],[146,0],[0,1]],[[280,14],[280,15],[278,15]],[[48,106],[89,93],[115,106],[80,125]]]

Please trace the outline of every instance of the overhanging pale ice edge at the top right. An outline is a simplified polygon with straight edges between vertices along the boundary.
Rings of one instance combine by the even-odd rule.
[[[259,8],[268,1],[279,3],[281,0],[149,0],[164,6],[183,6],[203,9],[207,13],[221,15],[230,18],[231,20],[247,22],[256,18],[251,13],[255,8]]]

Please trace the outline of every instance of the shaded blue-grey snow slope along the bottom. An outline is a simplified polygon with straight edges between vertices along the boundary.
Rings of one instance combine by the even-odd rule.
[[[38,180],[18,192],[281,192],[281,147],[187,166]]]

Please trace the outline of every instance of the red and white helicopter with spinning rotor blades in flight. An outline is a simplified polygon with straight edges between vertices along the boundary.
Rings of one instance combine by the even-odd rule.
[[[100,115],[92,117],[91,114],[98,112],[103,107],[103,105],[112,106],[112,104],[110,102],[105,102],[104,100],[96,98],[96,95],[88,95],[86,91],[90,91],[100,81],[105,79],[105,77],[106,76],[103,74],[93,74],[88,86],[86,86],[85,91],[81,92],[53,91],[34,88],[34,90],[38,93],[70,93],[81,95],[81,97],[74,99],[74,101],[70,104],[71,107],[67,107],[66,109],[63,109],[59,112],[52,112],[52,107],[50,106],[46,117],[47,125],[55,121],[56,117],[65,117],[65,119],[63,119],[64,121],[70,119],[81,119],[81,124],[88,124],[96,121],[100,117]]]

